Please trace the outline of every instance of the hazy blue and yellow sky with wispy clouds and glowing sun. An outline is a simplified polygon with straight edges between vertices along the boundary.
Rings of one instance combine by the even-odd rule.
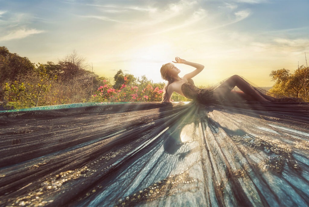
[[[237,74],[272,86],[271,71],[306,66],[308,8],[307,0],[0,0],[0,46],[33,63],[75,50],[111,79],[121,69],[164,82],[160,67],[179,56],[205,66],[196,85]],[[194,69],[177,67],[180,76]]]

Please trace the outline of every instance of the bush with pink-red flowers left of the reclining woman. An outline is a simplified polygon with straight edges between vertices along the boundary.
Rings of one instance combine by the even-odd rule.
[[[99,102],[133,102],[133,101],[161,101],[163,90],[159,87],[153,88],[150,84],[146,88],[130,86],[127,84],[127,77],[124,77],[125,83],[119,90],[105,84],[100,86],[92,96],[94,101]],[[105,82],[105,81],[103,81]]]

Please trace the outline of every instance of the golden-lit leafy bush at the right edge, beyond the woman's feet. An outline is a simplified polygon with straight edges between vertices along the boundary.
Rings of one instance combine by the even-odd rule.
[[[308,67],[303,65],[290,73],[288,69],[279,69],[270,73],[272,81],[275,81],[273,88],[269,90],[274,93],[287,97],[302,98],[303,101],[308,101],[309,98],[309,71]]]

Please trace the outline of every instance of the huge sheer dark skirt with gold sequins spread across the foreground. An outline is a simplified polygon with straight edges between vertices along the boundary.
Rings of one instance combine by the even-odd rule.
[[[308,206],[309,105],[0,112],[0,206]]]

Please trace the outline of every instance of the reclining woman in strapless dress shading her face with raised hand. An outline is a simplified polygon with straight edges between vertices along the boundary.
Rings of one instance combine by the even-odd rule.
[[[279,101],[279,99],[257,91],[238,75],[231,76],[215,87],[197,88],[191,78],[199,74],[204,69],[204,66],[198,63],[188,62],[179,57],[176,57],[175,61],[172,62],[186,64],[196,69],[181,78],[178,75],[180,70],[175,67],[174,64],[164,64],[161,67],[161,76],[164,80],[167,80],[168,83],[164,88],[163,102],[171,102],[170,99],[173,92],[203,104],[218,101]],[[241,91],[232,90],[235,86]]]

